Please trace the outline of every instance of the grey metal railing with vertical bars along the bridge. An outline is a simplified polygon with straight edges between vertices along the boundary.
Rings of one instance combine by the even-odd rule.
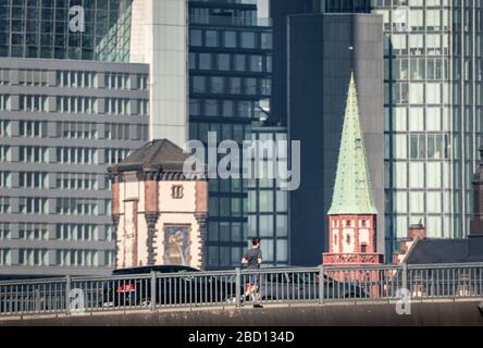
[[[319,266],[0,282],[0,316],[483,297],[483,263]]]

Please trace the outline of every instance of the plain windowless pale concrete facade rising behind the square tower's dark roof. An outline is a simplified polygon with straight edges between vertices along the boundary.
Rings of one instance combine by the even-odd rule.
[[[150,138],[188,138],[187,0],[134,0],[131,61],[150,65]]]

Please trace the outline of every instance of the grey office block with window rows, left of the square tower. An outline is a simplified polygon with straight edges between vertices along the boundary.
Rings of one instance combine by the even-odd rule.
[[[0,276],[107,274],[107,167],[148,139],[148,67],[0,59]]]

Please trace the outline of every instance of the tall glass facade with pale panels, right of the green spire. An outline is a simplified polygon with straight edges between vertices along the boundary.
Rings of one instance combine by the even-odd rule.
[[[466,237],[483,129],[483,4],[372,5],[385,32],[386,252],[419,222],[429,237]]]

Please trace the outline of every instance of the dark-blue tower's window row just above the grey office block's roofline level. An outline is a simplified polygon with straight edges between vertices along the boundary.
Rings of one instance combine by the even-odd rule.
[[[191,47],[271,50],[272,34],[245,30],[191,29],[189,30],[189,45]]]

